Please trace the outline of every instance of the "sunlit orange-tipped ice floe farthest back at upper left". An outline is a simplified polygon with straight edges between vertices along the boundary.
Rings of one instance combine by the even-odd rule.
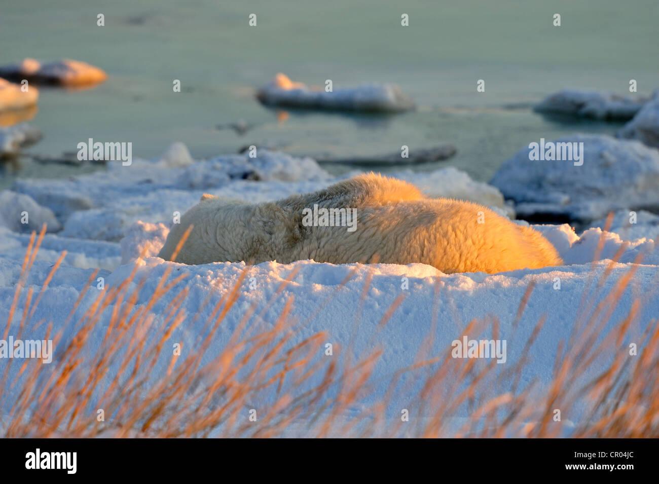
[[[86,86],[98,84],[107,79],[107,74],[88,63],[63,59],[51,63],[41,63],[26,58],[16,64],[0,66],[0,77],[20,82],[57,84],[61,86]]]

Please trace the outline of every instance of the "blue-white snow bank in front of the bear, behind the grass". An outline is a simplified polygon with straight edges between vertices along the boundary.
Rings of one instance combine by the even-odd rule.
[[[588,236],[590,240],[590,236]],[[574,245],[574,244],[573,244]],[[593,244],[585,244],[583,250],[592,250]],[[14,265],[9,265],[13,263]],[[384,395],[395,373],[415,363],[419,348],[427,348],[428,358],[440,357],[448,354],[451,342],[461,339],[465,335],[465,328],[473,319],[492,318],[500,321],[499,338],[507,340],[507,355],[503,364],[494,365],[494,373],[480,386],[479,398],[493,398],[507,391],[513,377],[519,377],[523,383],[536,381],[540,388],[548,385],[552,378],[554,360],[559,351],[559,345],[571,332],[573,323],[580,314],[582,295],[588,289],[591,278],[602,281],[594,301],[602,300],[610,292],[616,282],[627,274],[629,265],[618,263],[611,265],[610,261],[600,261],[591,265],[574,265],[572,267],[554,267],[536,269],[532,271],[513,271],[498,275],[483,273],[466,273],[444,275],[433,267],[411,265],[331,265],[314,263],[313,261],[299,261],[289,265],[275,262],[262,263],[246,268],[243,263],[213,263],[199,266],[185,266],[167,263],[158,258],[149,258],[139,261],[134,281],[145,281],[144,289],[139,292],[135,304],[138,307],[147,307],[150,293],[158,284],[160,277],[167,267],[175,269],[175,275],[185,275],[186,279],[175,286],[172,296],[156,302],[150,308],[150,313],[157,323],[161,321],[165,308],[171,302],[173,294],[183,288],[189,291],[184,307],[188,318],[175,329],[171,338],[163,348],[171,348],[173,343],[181,343],[185,351],[194,351],[198,348],[197,341],[206,331],[206,319],[211,315],[212,309],[239,281],[244,270],[248,270],[249,280],[245,280],[239,287],[239,299],[235,306],[227,313],[210,340],[210,347],[204,359],[220,354],[227,345],[235,329],[244,316],[245,311],[252,305],[256,307],[254,317],[248,325],[248,334],[254,335],[259,331],[272,329],[273,322],[283,311],[286,301],[294,301],[291,309],[289,340],[285,348],[293,348],[305,338],[318,332],[324,332],[325,337],[319,342],[319,358],[337,358],[339,365],[345,362],[345,357],[365,357],[376,349],[382,350],[373,367],[369,379],[372,393],[359,402],[360,405],[371,406]],[[13,297],[15,274],[19,269],[18,261],[0,262],[0,319],[6,317],[7,308]],[[43,281],[49,267],[36,265],[34,278],[30,284],[39,284]],[[115,288],[126,281],[132,271],[132,265],[123,265],[113,273],[103,273],[105,288]],[[604,277],[606,271],[610,275]],[[89,277],[88,271],[77,269],[78,273],[67,269],[59,279],[54,279],[45,291],[43,302],[36,311],[33,321],[45,318],[47,321],[62,321],[61,315],[67,315],[72,302],[78,297],[80,291],[86,292],[83,307],[92,303],[98,297],[98,289],[94,284],[84,288],[84,282]],[[293,271],[297,271],[293,275]],[[625,292],[623,298],[613,310],[610,322],[602,329],[602,334],[616,327],[631,310],[633,294],[646,292],[646,301],[652,302],[648,307],[639,311],[633,322],[635,331],[642,332],[646,325],[656,316],[656,301],[654,295],[656,285],[653,285],[657,267],[643,265],[637,268],[631,290]],[[286,282],[287,279],[290,282]],[[348,279],[345,286],[342,281]],[[556,288],[557,279],[560,286]],[[368,282],[367,297],[362,302],[362,291]],[[403,284],[407,282],[407,284]],[[535,284],[527,308],[521,321],[515,325],[515,314],[523,299],[529,284]],[[132,284],[136,287],[137,282]],[[406,288],[407,287],[407,288]],[[397,296],[403,296],[399,308],[393,313],[385,325],[380,326],[380,319],[387,308],[393,304]],[[654,299],[653,299],[654,297]],[[204,305],[203,302],[208,301]],[[318,312],[322,304],[328,303],[325,310]],[[113,307],[109,307],[101,321],[94,327],[92,347],[101,345],[105,338],[105,331]],[[194,317],[193,317],[194,315]],[[547,320],[542,330],[530,348],[525,347],[532,331],[540,317]],[[434,327],[432,321],[437,321]],[[17,324],[17,323],[16,323]],[[434,330],[432,328],[435,328]],[[67,331],[69,329],[67,328]],[[65,331],[61,348],[71,338],[71,333]],[[115,330],[116,331],[116,330]],[[28,327],[27,336],[39,335],[38,329]],[[431,336],[432,335],[432,336]],[[158,338],[157,334],[144,335],[146,338]],[[471,338],[492,337],[491,329],[484,333],[469,334]],[[331,343],[334,356],[323,356],[325,344]],[[57,350],[55,355],[57,361]],[[150,379],[158,381],[165,374],[171,363],[171,350],[163,351],[156,367],[150,371]],[[611,352],[604,352],[601,358],[611,358]],[[510,369],[521,358],[529,358],[529,363],[523,366],[521,374],[511,375]],[[443,359],[443,358],[442,358]],[[490,361],[477,362],[478,368]],[[55,363],[57,364],[57,363]],[[121,359],[107,371],[113,375]],[[451,359],[446,364],[463,367],[467,361]],[[116,366],[115,366],[116,365]],[[437,365],[434,365],[436,367]],[[584,380],[594,379],[600,374],[602,360],[598,359],[592,368],[580,375]],[[47,371],[45,369],[44,371]],[[411,400],[413,389],[423,381],[425,369],[403,373],[399,380],[401,389],[405,391],[393,392],[389,405],[395,413],[400,408],[415,408],[415,401]],[[106,377],[106,378],[109,378]],[[310,378],[308,386],[318,383],[320,375]],[[92,396],[93,404],[99,397],[107,380],[101,381],[99,388]],[[200,382],[203,385],[203,381]],[[299,391],[308,388],[303,385]],[[16,385],[16,391],[20,385]],[[292,395],[295,397],[295,395]],[[267,396],[254,402],[256,408],[266,411],[268,404],[272,403]],[[419,402],[416,402],[418,404]],[[394,414],[395,414],[394,413]],[[457,414],[469,416],[469,408],[461,408]],[[572,416],[571,416],[572,418]]]

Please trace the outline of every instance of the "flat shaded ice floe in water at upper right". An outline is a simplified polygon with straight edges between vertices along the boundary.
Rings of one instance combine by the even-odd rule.
[[[629,99],[606,92],[566,89],[546,97],[533,109],[538,113],[598,120],[627,120],[632,119],[646,101],[647,99]]]

